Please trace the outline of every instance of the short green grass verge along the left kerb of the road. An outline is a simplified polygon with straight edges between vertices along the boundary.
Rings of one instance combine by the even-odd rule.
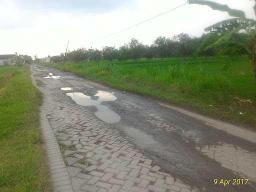
[[[0,191],[51,191],[28,66],[0,67]]]

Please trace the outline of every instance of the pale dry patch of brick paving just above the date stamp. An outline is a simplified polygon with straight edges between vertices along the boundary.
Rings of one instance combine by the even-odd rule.
[[[197,149],[221,163],[221,166],[231,169],[242,177],[256,181],[256,153],[227,143]]]

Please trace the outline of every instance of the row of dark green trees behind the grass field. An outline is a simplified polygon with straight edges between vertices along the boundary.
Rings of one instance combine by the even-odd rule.
[[[166,58],[166,57],[187,57],[187,56],[213,56],[218,54],[221,47],[205,47],[211,44],[221,34],[202,34],[200,37],[193,37],[186,33],[180,33],[173,37],[157,37],[152,44],[144,45],[138,39],[131,38],[128,43],[121,45],[119,48],[114,46],[104,46],[102,49],[94,48],[77,48],[68,51],[66,55],[52,56],[51,62],[61,62],[64,59],[68,61],[90,61],[90,60],[109,60],[114,59],[120,61],[134,59],[137,63],[142,57],[151,58]],[[242,46],[230,46],[223,54],[240,55],[246,54],[246,49]]]

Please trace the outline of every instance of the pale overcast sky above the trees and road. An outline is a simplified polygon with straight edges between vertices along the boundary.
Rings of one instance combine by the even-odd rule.
[[[225,12],[184,5],[149,22],[107,38],[92,40],[176,7],[186,0],[0,0],[0,54],[18,52],[39,57],[79,47],[119,47],[130,38],[151,44],[157,36],[185,32],[200,36]],[[254,0],[214,0],[242,9],[254,18]]]

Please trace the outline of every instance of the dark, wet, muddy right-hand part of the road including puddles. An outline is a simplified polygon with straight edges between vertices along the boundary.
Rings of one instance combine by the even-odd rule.
[[[231,125],[229,129],[225,124],[222,129],[220,122],[216,128],[157,100],[102,86],[69,72],[42,66],[32,67],[32,72],[33,78],[43,83],[39,89],[45,106],[50,108],[54,102],[65,100],[69,107],[89,110],[175,179],[205,191],[256,190],[256,143],[253,137],[246,139],[254,132],[238,128],[243,136],[230,134]],[[47,103],[49,95],[51,104]],[[218,182],[231,181],[226,186],[214,185],[215,178]],[[237,178],[248,178],[248,182],[232,184]]]

